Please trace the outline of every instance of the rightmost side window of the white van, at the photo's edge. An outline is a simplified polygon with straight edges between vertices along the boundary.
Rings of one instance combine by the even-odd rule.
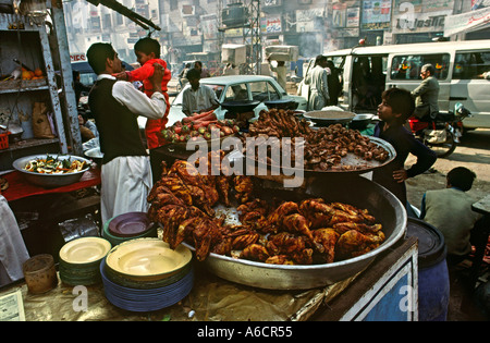
[[[453,78],[483,78],[483,73],[490,71],[490,51],[456,53],[453,68]]]

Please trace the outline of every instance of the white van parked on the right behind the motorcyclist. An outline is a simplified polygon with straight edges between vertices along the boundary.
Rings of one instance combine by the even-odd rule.
[[[390,87],[415,89],[420,69],[431,63],[439,79],[439,109],[462,102],[473,117],[467,128],[490,128],[490,39],[356,47],[326,53],[343,76],[339,105],[355,113],[376,113]]]

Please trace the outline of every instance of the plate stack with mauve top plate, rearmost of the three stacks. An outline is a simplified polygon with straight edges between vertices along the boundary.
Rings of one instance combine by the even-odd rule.
[[[157,236],[158,226],[151,223],[146,212],[128,212],[113,217],[102,228],[102,237],[112,246],[130,240]]]

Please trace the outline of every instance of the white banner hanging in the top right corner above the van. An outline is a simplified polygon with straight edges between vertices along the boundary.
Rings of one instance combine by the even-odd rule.
[[[444,37],[490,27],[490,7],[462,14],[448,15]]]

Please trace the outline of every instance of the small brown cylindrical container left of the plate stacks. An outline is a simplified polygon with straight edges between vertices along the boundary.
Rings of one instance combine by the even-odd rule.
[[[32,294],[42,294],[58,285],[54,259],[49,254],[36,255],[22,266],[27,289]]]

